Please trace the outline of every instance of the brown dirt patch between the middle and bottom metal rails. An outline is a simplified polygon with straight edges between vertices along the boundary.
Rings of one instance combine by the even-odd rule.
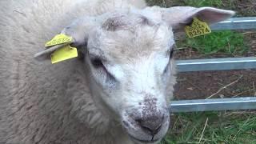
[[[180,73],[175,99],[256,96],[256,70]]]

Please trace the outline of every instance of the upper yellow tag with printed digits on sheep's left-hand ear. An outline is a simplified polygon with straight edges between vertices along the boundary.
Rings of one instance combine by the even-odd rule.
[[[66,34],[57,34],[53,39],[49,42],[46,42],[46,47],[60,45],[63,43],[71,43],[72,37],[67,36]]]

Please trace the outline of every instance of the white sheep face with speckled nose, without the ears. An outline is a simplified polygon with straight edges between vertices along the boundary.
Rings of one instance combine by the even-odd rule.
[[[107,18],[89,36],[90,81],[136,141],[157,142],[168,129],[173,46],[170,27],[141,14]]]

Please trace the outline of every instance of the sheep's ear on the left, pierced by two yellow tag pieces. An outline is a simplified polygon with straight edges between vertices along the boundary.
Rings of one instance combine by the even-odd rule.
[[[66,28],[61,32],[61,34],[70,36],[72,38],[71,42],[50,46],[46,50],[42,50],[41,52],[34,54],[34,58],[38,61],[48,60],[50,59],[50,54],[52,54],[55,50],[69,44],[77,48],[84,47],[87,43],[89,31],[92,30],[94,26],[97,26],[97,21],[93,17],[80,18],[74,21],[70,26],[66,26]]]

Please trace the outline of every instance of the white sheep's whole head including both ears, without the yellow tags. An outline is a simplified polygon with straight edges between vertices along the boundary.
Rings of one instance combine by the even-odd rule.
[[[174,31],[194,17],[214,23],[234,14],[210,7],[146,7],[115,10],[76,20],[62,30],[74,38],[90,70],[94,97],[138,143],[155,143],[170,124],[168,104],[175,83]],[[49,54],[61,46],[36,54]]]

